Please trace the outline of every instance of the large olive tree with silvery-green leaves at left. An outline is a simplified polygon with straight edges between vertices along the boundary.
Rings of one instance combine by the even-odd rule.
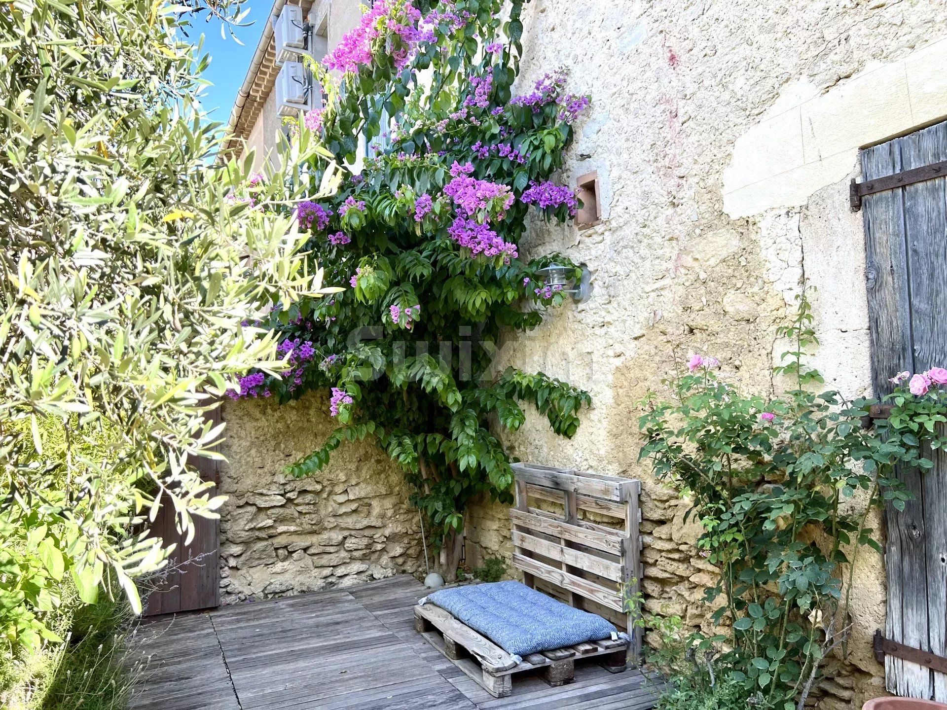
[[[251,366],[285,366],[273,337],[242,324],[320,293],[299,254],[308,236],[256,208],[302,187],[250,180],[252,156],[208,162],[222,136],[199,113],[206,59],[185,34],[202,12],[239,11],[201,0],[0,11],[5,654],[57,640],[43,618],[66,579],[86,602],[116,583],[140,608],[132,579],[167,554],[148,537],[157,506],[174,506],[189,534],[191,515],[222,502],[194,467],[217,455],[209,400]]]

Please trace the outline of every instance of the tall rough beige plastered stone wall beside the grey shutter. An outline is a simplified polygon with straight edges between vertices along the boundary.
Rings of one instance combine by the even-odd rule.
[[[636,402],[690,352],[719,358],[748,391],[778,393],[771,367],[803,276],[829,386],[867,393],[870,353],[862,215],[848,183],[857,149],[947,115],[947,6],[926,0],[533,0],[521,91],[564,65],[592,95],[563,182],[597,169],[602,222],[536,222],[527,255],[585,261],[594,293],[511,339],[507,364],[592,394],[572,440],[529,417],[506,435],[524,460],[642,479],[646,606],[704,626],[714,570],[695,554],[685,501],[637,463]],[[533,413],[535,414],[535,413]],[[505,554],[506,512],[474,506],[467,550]],[[876,529],[880,524],[876,526]],[[884,629],[884,564],[855,572],[849,664],[825,708],[884,694],[869,650]]]

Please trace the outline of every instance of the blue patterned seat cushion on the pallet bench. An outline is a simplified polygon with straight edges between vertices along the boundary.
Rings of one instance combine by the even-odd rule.
[[[428,595],[494,644],[517,656],[612,637],[615,626],[594,613],[563,604],[520,582],[491,582]]]

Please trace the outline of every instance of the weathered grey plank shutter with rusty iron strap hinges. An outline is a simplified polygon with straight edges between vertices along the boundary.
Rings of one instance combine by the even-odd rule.
[[[874,180],[947,160],[947,123],[862,151]],[[875,393],[897,372],[947,365],[947,179],[864,198],[868,312]],[[900,470],[915,499],[885,511],[888,639],[947,656],[947,455],[933,470]],[[947,701],[947,675],[888,655],[887,689]]]

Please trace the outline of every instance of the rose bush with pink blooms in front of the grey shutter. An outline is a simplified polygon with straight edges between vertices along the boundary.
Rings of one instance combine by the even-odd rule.
[[[930,470],[930,450],[947,446],[947,370],[895,375],[890,416],[866,427],[874,400],[816,394],[822,378],[803,363],[812,319],[803,297],[779,331],[794,344],[776,368],[794,385],[782,398],[742,395],[698,354],[668,382],[675,401],[649,397],[640,419],[642,458],[688,496],[705,529],[697,546],[720,569],[706,600],[728,632],[689,647],[755,706],[779,710],[801,710],[825,655],[847,648],[859,551],[882,551],[869,513],[903,510],[911,496],[897,471]]]

